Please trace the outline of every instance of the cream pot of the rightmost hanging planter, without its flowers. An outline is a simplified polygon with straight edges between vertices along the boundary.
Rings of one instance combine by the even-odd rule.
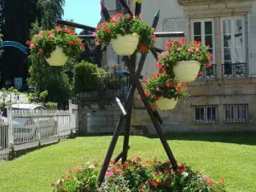
[[[200,62],[198,61],[179,61],[173,67],[173,73],[180,82],[192,82],[198,76]]]

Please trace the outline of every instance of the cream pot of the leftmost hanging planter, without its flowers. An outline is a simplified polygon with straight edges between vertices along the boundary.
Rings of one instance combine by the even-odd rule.
[[[46,61],[50,66],[64,66],[67,62],[67,55],[64,54],[63,49],[59,46],[56,46],[56,49],[50,54],[49,58]]]

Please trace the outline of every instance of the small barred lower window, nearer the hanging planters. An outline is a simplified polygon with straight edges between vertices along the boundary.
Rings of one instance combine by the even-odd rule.
[[[195,124],[218,123],[218,106],[195,106]]]

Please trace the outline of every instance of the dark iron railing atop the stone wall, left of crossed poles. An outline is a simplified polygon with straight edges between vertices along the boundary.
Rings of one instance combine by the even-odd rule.
[[[113,100],[116,96],[122,101],[129,91],[129,79],[114,73],[96,73],[99,79],[95,89],[79,93],[79,101]]]

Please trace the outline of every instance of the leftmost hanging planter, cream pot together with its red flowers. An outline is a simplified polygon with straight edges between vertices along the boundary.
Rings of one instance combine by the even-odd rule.
[[[76,57],[84,51],[84,44],[76,33],[61,26],[39,32],[26,44],[31,54],[44,56],[50,66],[63,66],[68,58]]]

